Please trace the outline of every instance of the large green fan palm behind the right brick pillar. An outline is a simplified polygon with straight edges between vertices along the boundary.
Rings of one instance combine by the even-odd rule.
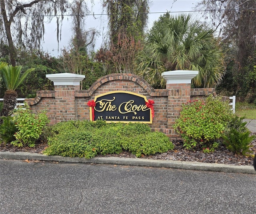
[[[223,55],[213,30],[190,15],[160,16],[147,34],[143,51],[137,57],[137,74],[153,86],[165,86],[162,72],[194,70],[196,87],[214,87],[224,75]]]

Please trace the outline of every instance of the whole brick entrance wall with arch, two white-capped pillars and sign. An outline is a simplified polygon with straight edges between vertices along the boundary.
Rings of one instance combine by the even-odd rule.
[[[177,139],[179,135],[172,125],[179,117],[182,104],[215,93],[214,88],[191,89],[191,79],[197,74],[198,71],[164,72],[166,89],[154,89],[133,74],[110,74],[98,79],[88,90],[80,90],[84,75],[51,74],[46,77],[54,82],[54,90],[37,91],[36,98],[25,102],[34,113],[46,110],[50,124],[97,119],[144,122],[153,131]]]

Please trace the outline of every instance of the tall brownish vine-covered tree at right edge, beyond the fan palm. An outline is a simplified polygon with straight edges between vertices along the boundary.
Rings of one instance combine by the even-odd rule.
[[[227,69],[219,90],[256,102],[256,88],[250,83],[255,81],[256,1],[204,0],[197,8],[205,10],[204,17],[222,38]]]

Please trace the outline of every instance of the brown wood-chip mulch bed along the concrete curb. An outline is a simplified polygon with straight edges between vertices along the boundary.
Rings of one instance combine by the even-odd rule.
[[[256,133],[252,133],[252,135],[256,135]],[[155,155],[142,155],[140,158],[144,159],[154,159],[154,160],[172,160],[172,161],[196,161],[201,163],[223,163],[228,165],[253,165],[253,157],[250,155],[247,156],[239,156],[232,152],[230,152],[226,147],[220,146],[213,153],[203,153],[201,150],[188,151],[184,149],[181,141],[173,141],[175,147],[173,150],[168,151],[166,153],[157,153]],[[252,147],[250,148],[253,153],[256,153],[256,139],[252,141]],[[3,143],[0,144],[0,151],[24,151],[31,153],[42,153],[44,149],[47,147],[47,143],[45,141],[38,141],[36,146],[30,148],[28,146],[23,148],[14,147],[13,145]],[[103,157],[102,155],[98,155],[97,157]],[[120,154],[108,154],[104,155],[104,157],[130,157],[136,158],[135,155],[128,151],[123,151]]]

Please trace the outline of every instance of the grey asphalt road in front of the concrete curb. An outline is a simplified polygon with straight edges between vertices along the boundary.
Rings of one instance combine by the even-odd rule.
[[[1,214],[255,214],[256,175],[0,159]]]

